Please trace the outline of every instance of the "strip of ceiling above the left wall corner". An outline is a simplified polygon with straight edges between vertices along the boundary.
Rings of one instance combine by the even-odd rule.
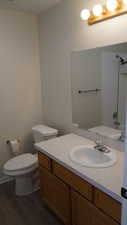
[[[61,0],[0,0],[0,9],[16,9],[39,14]]]

